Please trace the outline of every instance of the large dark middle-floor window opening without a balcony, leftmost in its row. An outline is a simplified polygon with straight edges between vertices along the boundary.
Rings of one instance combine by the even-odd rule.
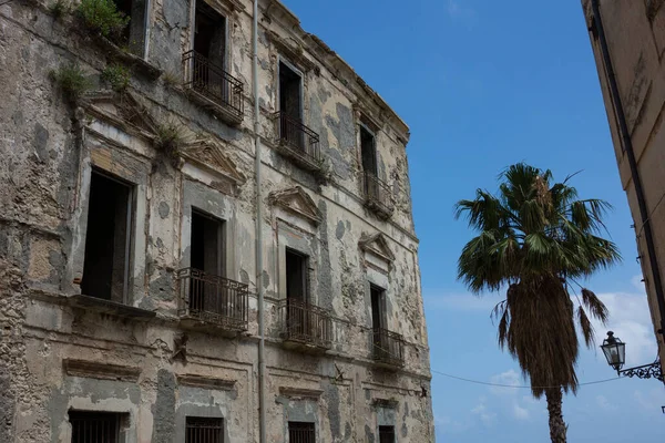
[[[131,236],[132,188],[93,171],[81,281],[84,295],[126,301]]]

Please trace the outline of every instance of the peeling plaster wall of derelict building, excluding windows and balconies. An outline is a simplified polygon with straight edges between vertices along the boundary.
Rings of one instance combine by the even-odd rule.
[[[86,32],[74,14],[54,17],[47,2],[0,6],[0,441],[69,442],[76,410],[124,414],[127,443],[182,442],[187,416],[223,418],[225,441],[257,442],[257,285],[268,441],[287,441],[289,421],[315,423],[318,442],[378,442],[379,425],[393,425],[399,442],[433,441],[408,127],[273,0],[259,2],[252,96],[252,3],[211,0],[227,18],[227,70],[244,84],[244,119],[229,123],[181,80],[190,2],[149,3],[143,58]],[[303,73],[304,123],[319,136],[326,174],[280,151],[280,60]],[[52,75],[71,63],[92,85],[75,101]],[[121,93],[101,78],[114,63],[131,73]],[[376,134],[389,216],[367,202],[361,122]],[[158,148],[167,123],[183,135],[177,158]],[[124,303],[81,293],[93,171],[132,188]],[[222,274],[248,286],[246,330],[185,322],[178,270],[191,265],[193,208],[224,220]],[[329,321],[325,347],[285,339],[287,248],[309,256],[308,301]],[[397,364],[376,357],[370,284],[386,290],[383,327],[403,340]]]

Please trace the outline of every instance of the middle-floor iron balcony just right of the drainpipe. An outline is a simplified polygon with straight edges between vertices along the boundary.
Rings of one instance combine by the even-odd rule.
[[[284,347],[305,352],[325,352],[332,346],[332,321],[328,310],[300,300],[279,303]]]

